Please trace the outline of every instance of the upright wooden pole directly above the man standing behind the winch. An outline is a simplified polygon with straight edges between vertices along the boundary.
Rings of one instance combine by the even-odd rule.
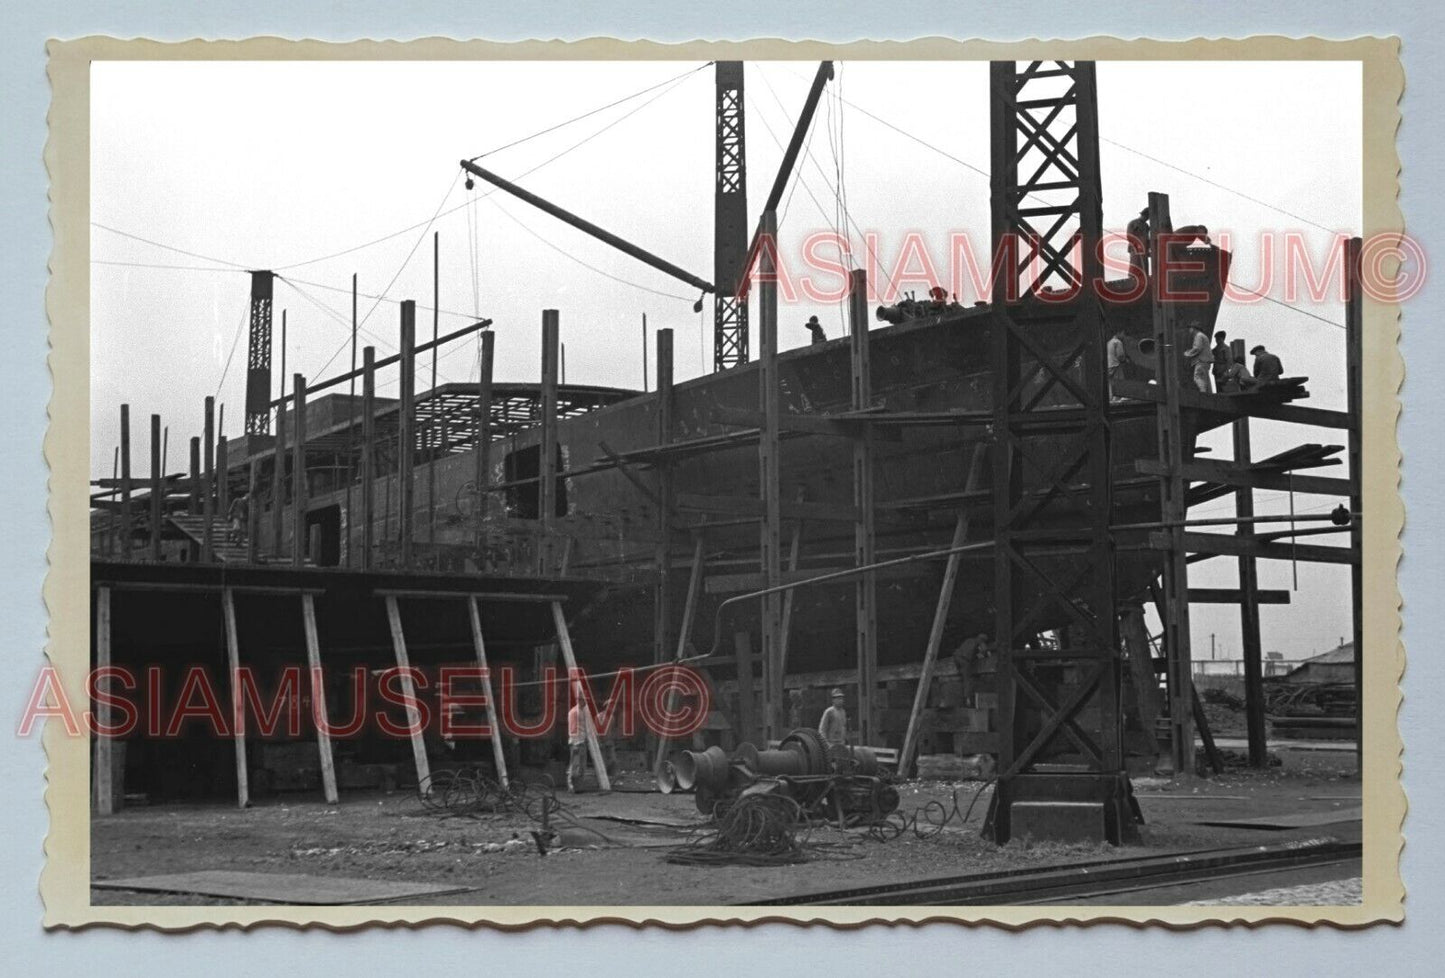
[[[853,361],[853,410],[873,406],[873,367],[868,357],[868,273],[854,269],[848,295],[848,339]],[[873,511],[873,428],[853,439],[853,507],[858,520],[853,524],[853,555],[855,566],[874,563]],[[879,670],[879,579],[873,572],[854,584],[854,617],[858,653],[858,743],[877,743],[877,711],[873,706],[876,673]]]

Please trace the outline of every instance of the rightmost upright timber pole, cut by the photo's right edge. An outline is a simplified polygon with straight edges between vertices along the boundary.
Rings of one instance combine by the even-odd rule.
[[[1360,285],[1360,238],[1345,241],[1345,413],[1350,416],[1350,639],[1354,643],[1355,773],[1364,771],[1364,539],[1358,514],[1364,511],[1364,290]]]

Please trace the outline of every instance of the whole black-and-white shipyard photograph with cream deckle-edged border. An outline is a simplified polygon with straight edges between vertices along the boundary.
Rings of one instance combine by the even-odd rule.
[[[1399,919],[1386,42],[105,43],[71,919]]]

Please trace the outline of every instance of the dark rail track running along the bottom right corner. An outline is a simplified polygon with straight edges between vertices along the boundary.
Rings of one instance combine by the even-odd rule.
[[[1360,842],[1276,842],[854,887],[750,901],[749,906],[970,907],[1056,903],[1068,897],[1101,897],[1235,875],[1344,864],[1358,860],[1361,852]]]

